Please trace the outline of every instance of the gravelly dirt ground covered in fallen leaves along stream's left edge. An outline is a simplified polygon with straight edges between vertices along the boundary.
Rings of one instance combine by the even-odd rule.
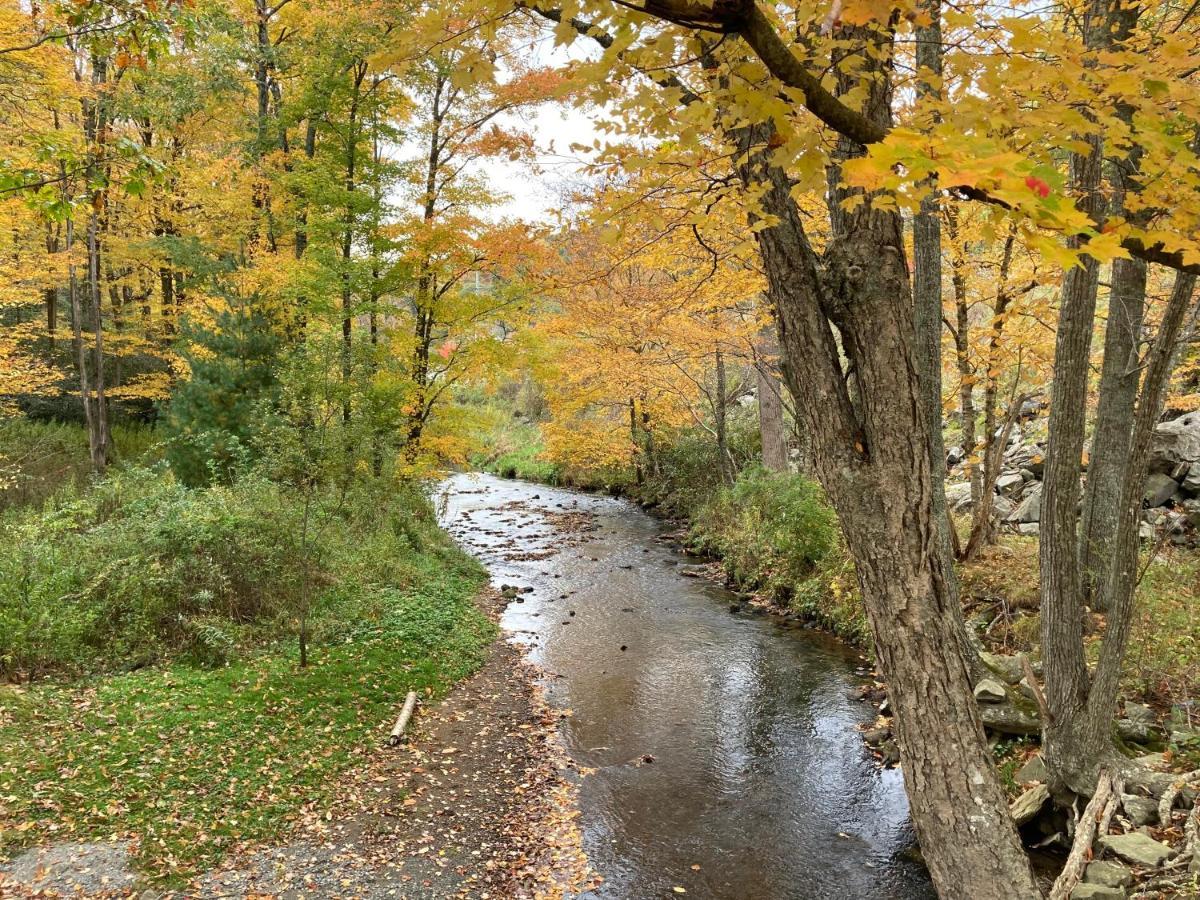
[[[504,600],[486,592],[493,619]],[[502,635],[470,678],[419,708],[410,742],[342,776],[322,815],[169,898],[562,898],[589,877],[575,773],[538,672]],[[116,845],[31,851],[0,895],[162,898]],[[2,881],[2,880],[0,880]],[[166,900],[163,898],[163,900]]]

